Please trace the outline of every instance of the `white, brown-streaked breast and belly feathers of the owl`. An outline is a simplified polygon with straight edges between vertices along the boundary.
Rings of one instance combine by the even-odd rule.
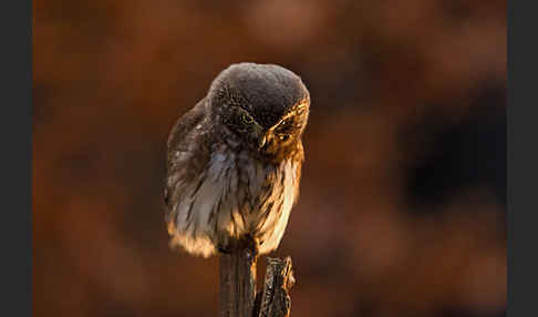
[[[258,229],[258,232],[263,233],[263,236],[259,237],[263,241],[263,244],[259,247],[261,254],[278,247],[294,201],[297,166],[289,161],[281,163],[280,173],[277,173],[277,180],[270,195],[273,197],[283,196],[282,209],[279,212],[277,209],[279,204],[273,204],[272,209],[268,212],[267,219],[262,222],[263,225],[260,227],[261,213],[259,211],[248,213],[244,223],[239,214],[240,207],[237,197],[235,194],[230,194],[237,193],[238,186],[238,175],[234,172],[236,171],[235,158],[236,156],[230,152],[217,151],[211,154],[209,170],[196,195],[193,194],[197,184],[193,184],[186,190],[176,206],[176,232],[172,244],[178,244],[192,254],[208,257],[216,253],[216,241],[219,235],[237,237],[249,233],[249,231]],[[248,162],[240,167],[247,168],[250,175],[250,193],[258,193],[267,175],[263,174],[265,172],[260,166],[257,166],[256,162],[250,160],[241,160],[241,162]],[[281,182],[281,177],[284,177],[283,182]],[[219,201],[221,201],[220,208],[216,216],[209,221],[210,214],[216,209],[216,204]],[[193,207],[187,219],[190,204],[193,204]],[[215,224],[215,222],[218,223]],[[215,228],[217,228],[217,233]]]

